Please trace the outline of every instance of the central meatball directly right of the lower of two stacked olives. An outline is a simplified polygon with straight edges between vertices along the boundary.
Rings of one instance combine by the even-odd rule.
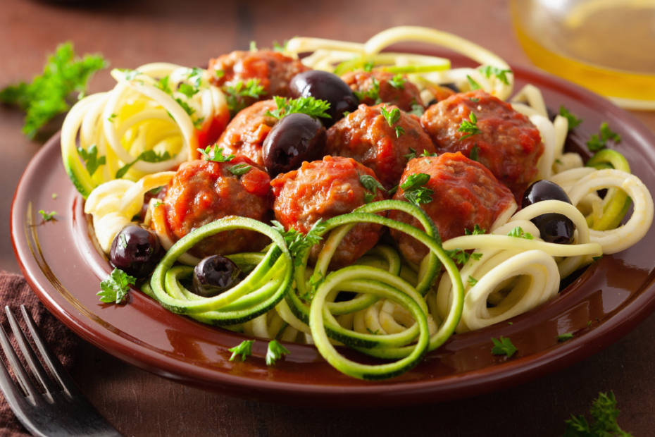
[[[357,111],[349,113],[328,129],[328,144],[325,154],[347,156],[361,162],[378,176],[386,190],[400,180],[408,158],[406,155],[416,152],[422,154],[435,152],[430,137],[420,127],[418,117],[400,111],[400,119],[389,126],[382,107],[359,105]],[[395,106],[386,105],[391,112]],[[397,134],[395,128],[400,126],[404,133]]]

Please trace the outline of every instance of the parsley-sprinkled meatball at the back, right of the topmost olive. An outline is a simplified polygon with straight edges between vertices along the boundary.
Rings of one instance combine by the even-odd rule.
[[[397,75],[388,71],[349,71],[341,76],[359,98],[359,103],[373,106],[388,103],[398,106],[403,111],[411,111],[413,105],[423,107],[420,92],[416,85],[402,75],[401,80],[394,80]],[[378,85],[375,85],[377,80]],[[405,81],[405,82],[403,82]],[[376,92],[377,87],[377,92]],[[368,95],[367,95],[368,94]],[[377,94],[377,98],[375,97]]]

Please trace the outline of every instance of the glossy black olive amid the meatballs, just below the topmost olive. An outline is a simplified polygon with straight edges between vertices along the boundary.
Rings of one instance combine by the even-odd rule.
[[[264,166],[271,176],[295,170],[303,161],[322,158],[327,141],[320,121],[304,113],[291,113],[277,121],[264,140]]]

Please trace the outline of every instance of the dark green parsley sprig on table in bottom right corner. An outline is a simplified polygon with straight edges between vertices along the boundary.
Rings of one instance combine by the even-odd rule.
[[[632,434],[623,431],[616,423],[619,410],[616,409],[616,398],[613,392],[598,393],[591,410],[591,424],[582,414],[565,421],[564,437],[632,437]]]

